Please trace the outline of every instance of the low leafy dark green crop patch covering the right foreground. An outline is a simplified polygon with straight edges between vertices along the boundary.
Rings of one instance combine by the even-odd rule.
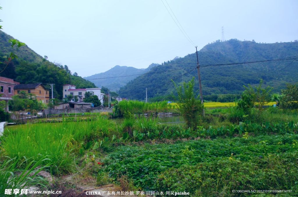
[[[291,188],[298,175],[297,145],[292,145],[297,139],[296,134],[287,134],[274,138],[248,136],[247,139],[123,146],[108,154],[104,161],[106,168],[101,171],[108,172],[114,180],[125,174],[142,189],[189,191],[191,196],[196,196],[196,190],[201,190],[203,196],[208,192],[218,196],[217,190],[231,193],[234,187],[252,187],[250,182],[257,189],[262,189],[259,187],[263,186],[263,181],[272,188]],[[274,162],[271,168],[260,144],[262,140],[266,140],[266,151]],[[291,174],[277,179],[285,171],[291,171]],[[275,183],[268,177],[274,178]]]

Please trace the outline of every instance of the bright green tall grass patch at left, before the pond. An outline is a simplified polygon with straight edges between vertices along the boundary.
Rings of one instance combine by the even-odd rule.
[[[75,164],[72,155],[82,142],[97,141],[109,136],[110,131],[117,135],[115,124],[105,117],[96,121],[28,124],[6,130],[1,145],[4,155],[10,158],[26,157],[29,161],[49,158],[52,173],[62,174],[72,171]]]

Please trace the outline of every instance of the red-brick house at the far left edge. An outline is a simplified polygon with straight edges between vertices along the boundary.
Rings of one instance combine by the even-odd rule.
[[[14,86],[20,84],[19,82],[13,81],[13,79],[9,79],[6,77],[0,77],[0,101],[6,101],[5,112],[8,112],[8,101],[12,100],[12,96],[14,93]]]

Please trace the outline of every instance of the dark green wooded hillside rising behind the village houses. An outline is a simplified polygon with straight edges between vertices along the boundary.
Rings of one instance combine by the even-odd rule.
[[[0,71],[3,70],[0,76],[14,79],[20,83],[43,83],[48,89],[50,88],[49,84],[54,83],[53,94],[55,98],[59,99],[62,98],[63,84],[76,85],[77,88],[96,87],[94,83],[72,75],[68,66],[47,61],[27,45],[20,47],[18,50],[13,49],[8,42],[9,39],[13,39],[13,37],[0,31],[0,62],[2,62],[0,63]],[[2,56],[8,52],[15,53],[18,59],[13,59],[7,65],[3,63],[5,59]]]

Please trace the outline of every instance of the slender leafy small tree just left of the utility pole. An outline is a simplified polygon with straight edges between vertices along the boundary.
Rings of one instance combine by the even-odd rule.
[[[174,81],[173,83],[178,93],[178,110],[181,112],[187,127],[195,129],[201,119],[204,104],[201,104],[199,97],[195,96],[193,91],[194,77],[188,83],[183,83],[184,91],[181,86],[177,87]]]

